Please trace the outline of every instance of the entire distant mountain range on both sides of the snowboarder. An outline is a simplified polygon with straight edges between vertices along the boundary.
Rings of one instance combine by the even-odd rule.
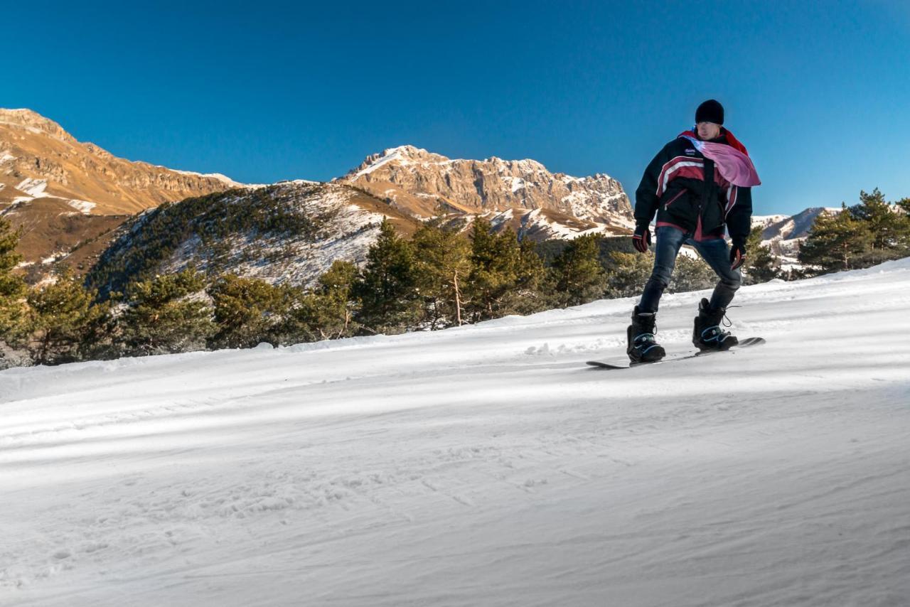
[[[821,210],[753,223],[790,257]],[[240,219],[245,213],[278,214],[288,229],[270,222],[263,233]],[[468,230],[482,217],[535,241],[634,227],[629,197],[612,177],[551,173],[531,159],[450,159],[401,146],[328,183],[250,186],[115,157],[27,109],[0,109],[0,214],[23,230],[19,249],[31,282],[55,262],[80,272],[97,264],[93,276],[106,288],[190,262],[309,284],[336,258],[363,261],[383,218],[408,236],[427,218]],[[237,229],[213,241],[207,226],[228,217]]]

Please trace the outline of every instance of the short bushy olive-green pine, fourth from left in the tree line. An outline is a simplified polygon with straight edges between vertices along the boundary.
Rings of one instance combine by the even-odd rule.
[[[224,274],[207,289],[212,298],[217,333],[211,348],[252,348],[278,343],[278,326],[288,313],[284,289],[258,278]]]

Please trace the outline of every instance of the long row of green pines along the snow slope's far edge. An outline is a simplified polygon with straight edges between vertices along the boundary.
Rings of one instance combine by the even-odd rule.
[[[877,192],[867,197],[880,196]],[[868,248],[881,258],[882,243],[899,238],[882,223],[875,204],[850,217],[873,222],[880,231]],[[826,220],[810,241],[822,238]],[[91,280],[65,267],[56,281],[29,288],[15,272],[21,261],[17,240],[8,220],[0,218],[0,354],[8,355],[6,365],[446,329],[598,298],[634,297],[653,266],[652,254],[633,252],[628,237],[586,235],[535,244],[476,218],[467,235],[434,219],[406,239],[385,220],[362,267],[335,261],[311,288],[190,266],[173,274],[143,274],[119,291],[99,292]],[[743,272],[747,284],[778,276],[773,255],[760,243],[756,228]],[[716,280],[701,259],[681,255],[668,290],[711,288]]]

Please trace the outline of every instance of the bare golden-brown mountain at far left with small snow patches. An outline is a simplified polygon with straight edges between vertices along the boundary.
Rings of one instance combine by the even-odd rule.
[[[31,281],[66,258],[87,268],[130,215],[241,184],[119,158],[28,109],[0,109],[0,215],[21,228]],[[77,250],[76,250],[77,249]]]

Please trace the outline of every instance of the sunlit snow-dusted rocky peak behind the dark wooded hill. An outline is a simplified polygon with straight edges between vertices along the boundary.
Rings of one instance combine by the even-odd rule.
[[[524,233],[541,239],[634,227],[632,205],[618,181],[554,174],[536,160],[450,159],[402,146],[367,157],[339,181],[418,218],[513,212],[524,218],[518,224]]]

